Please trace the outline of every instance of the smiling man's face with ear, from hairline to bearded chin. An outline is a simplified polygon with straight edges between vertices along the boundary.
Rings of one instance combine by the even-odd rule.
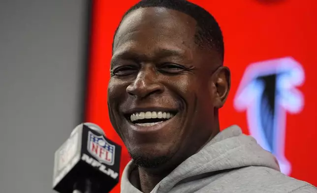
[[[228,71],[219,53],[196,45],[195,32],[193,18],[158,7],[132,11],[118,29],[109,115],[141,166],[179,164],[219,132]]]

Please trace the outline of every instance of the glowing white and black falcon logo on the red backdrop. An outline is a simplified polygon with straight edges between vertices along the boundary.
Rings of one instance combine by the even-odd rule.
[[[284,154],[286,111],[303,109],[304,97],[296,87],[304,79],[302,66],[290,57],[250,64],[234,99],[236,110],[247,111],[251,135],[275,155],[286,175],[291,171]]]

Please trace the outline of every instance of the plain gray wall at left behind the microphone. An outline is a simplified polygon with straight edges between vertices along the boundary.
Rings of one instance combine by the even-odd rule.
[[[53,193],[79,124],[84,0],[0,0],[0,193]]]

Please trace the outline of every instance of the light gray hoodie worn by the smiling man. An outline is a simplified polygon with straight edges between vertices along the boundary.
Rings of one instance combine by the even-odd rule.
[[[131,183],[136,169],[131,161],[127,164],[122,193],[141,193]],[[282,174],[271,153],[232,126],[181,163],[151,193],[317,193],[317,189]]]

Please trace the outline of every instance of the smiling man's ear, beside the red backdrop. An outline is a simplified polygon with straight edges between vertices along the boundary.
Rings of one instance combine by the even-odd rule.
[[[220,66],[212,77],[214,92],[214,106],[221,108],[229,94],[231,86],[230,70],[228,67]]]

